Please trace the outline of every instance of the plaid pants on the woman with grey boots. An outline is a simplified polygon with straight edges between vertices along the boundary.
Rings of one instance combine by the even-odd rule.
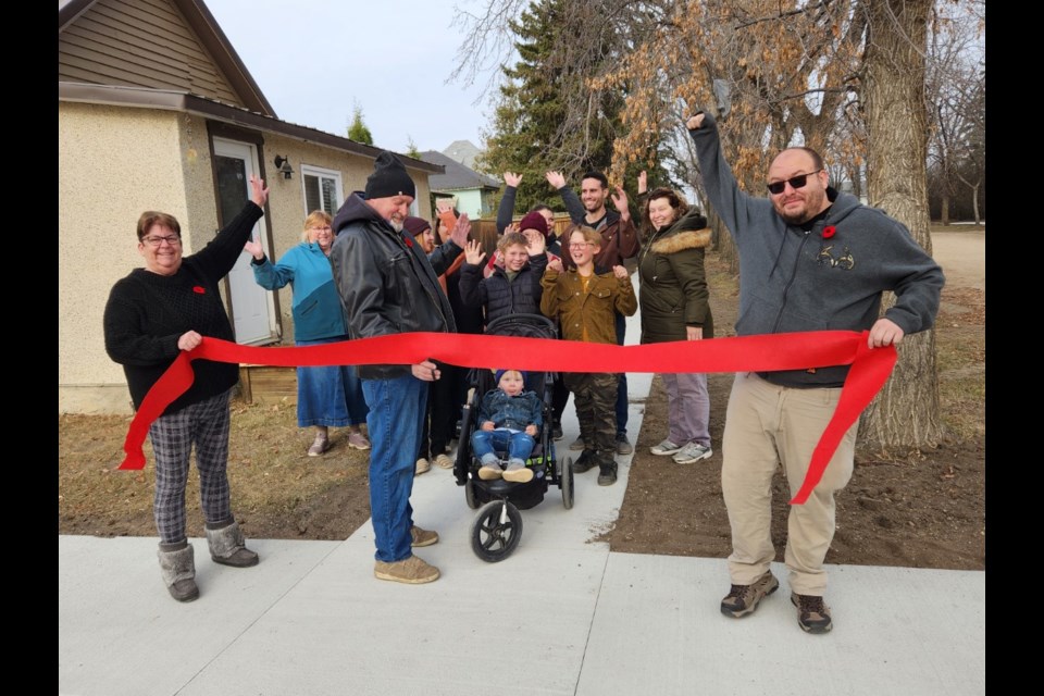
[[[156,452],[156,497],[152,511],[163,544],[187,538],[185,486],[188,460],[196,445],[199,497],[207,522],[232,519],[228,494],[228,391],[161,415],[149,428]]]

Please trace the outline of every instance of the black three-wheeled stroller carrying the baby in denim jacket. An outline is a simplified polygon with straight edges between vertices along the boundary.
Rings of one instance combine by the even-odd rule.
[[[522,336],[531,338],[557,338],[555,322],[539,314],[511,314],[494,320],[486,326],[488,336]],[[522,537],[522,514],[538,505],[550,484],[562,492],[566,509],[573,507],[573,471],[569,458],[560,462],[555,457],[555,440],[551,437],[554,409],[551,391],[555,374],[551,372],[532,372],[526,380],[526,389],[535,391],[543,401],[544,426],[536,437],[536,445],[526,465],[533,470],[533,478],[525,483],[495,480],[483,481],[478,477],[482,462],[471,451],[471,434],[478,417],[482,397],[496,387],[493,373],[485,369],[474,369],[469,373],[469,383],[473,393],[464,406],[461,418],[460,439],[457,448],[457,462],[453,474],[457,485],[464,487],[468,507],[478,510],[471,526],[471,548],[484,561],[501,561],[514,551]],[[497,451],[501,463],[507,452]]]

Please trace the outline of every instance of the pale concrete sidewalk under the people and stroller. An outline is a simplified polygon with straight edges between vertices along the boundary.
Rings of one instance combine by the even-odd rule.
[[[638,331],[629,325],[629,343]],[[632,439],[650,375],[629,375]],[[567,408],[567,415],[573,412]],[[558,457],[576,435],[568,421]],[[985,573],[831,568],[835,627],[806,635],[786,571],[758,611],[729,619],[725,562],[611,554],[594,540],[627,484],[576,476],[524,510],[514,554],[470,547],[474,511],[452,472],[415,480],[418,524],[443,571],[428,585],[373,577],[373,532],[345,542],[250,539],[251,569],[196,548],[200,598],[178,604],[159,576],[157,538],[59,536],[59,693],[152,695],[669,695],[985,692]]]

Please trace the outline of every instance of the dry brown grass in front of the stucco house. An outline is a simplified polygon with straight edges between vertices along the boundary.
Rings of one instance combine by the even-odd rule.
[[[59,531],[67,534],[153,535],[152,492],[154,467],[148,442],[144,471],[117,471],[123,458],[123,438],[129,417],[59,417]],[[365,498],[368,456],[349,449],[338,428],[332,428],[333,448],[323,457],[308,457],[311,430],[297,427],[290,402],[232,403],[232,437],[228,475],[233,505],[240,521],[250,520],[250,531],[298,519],[340,486],[361,488]],[[346,435],[346,434],[345,434]],[[199,513],[199,478],[189,475],[186,505],[189,535],[202,535]],[[346,511],[346,514],[348,511]],[[353,530],[369,517],[346,522]],[[291,525],[295,526],[295,525]],[[297,533],[306,533],[299,529]],[[350,533],[350,531],[349,531]],[[269,536],[265,534],[265,536]],[[276,535],[274,538],[281,538]],[[341,536],[340,538],[344,538]]]

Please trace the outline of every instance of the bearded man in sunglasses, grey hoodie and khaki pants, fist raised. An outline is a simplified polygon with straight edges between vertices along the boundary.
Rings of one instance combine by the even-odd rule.
[[[736,333],[869,330],[869,346],[897,344],[929,328],[939,311],[943,272],[909,231],[883,211],[829,186],[822,158],[788,148],[769,166],[768,198],[739,190],[710,114],[686,122],[711,206],[739,252]],[[880,316],[881,293],[896,295]],[[820,435],[834,413],[846,365],[738,373],[722,442],[722,494],[732,527],[729,617],[753,612],[779,587],[770,571],[771,482],[782,463],[797,493]],[[805,505],[791,506],[784,560],[798,624],[833,626],[823,602],[823,559],[834,535],[834,494],[852,477],[857,424],[845,434]]]

